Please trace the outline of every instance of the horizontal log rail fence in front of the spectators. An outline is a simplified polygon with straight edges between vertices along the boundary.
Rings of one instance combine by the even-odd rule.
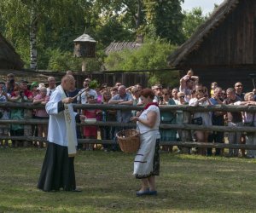
[[[33,105],[32,103],[12,103],[12,102],[0,102],[1,108],[24,108],[24,109],[38,109],[44,108],[42,105]],[[75,109],[100,109],[100,110],[142,110],[143,107],[134,107],[134,106],[121,106],[121,105],[73,105]],[[212,147],[212,148],[232,148],[232,149],[251,149],[256,150],[255,145],[245,145],[245,144],[226,144],[226,143],[203,143],[195,142],[191,140],[191,130],[209,130],[209,131],[221,131],[221,132],[255,132],[255,127],[228,127],[228,126],[205,126],[205,125],[195,125],[190,124],[191,114],[194,112],[256,112],[256,107],[245,107],[245,106],[207,106],[207,107],[191,107],[191,106],[166,106],[160,107],[160,111],[171,111],[183,112],[183,121],[182,124],[160,124],[160,129],[170,129],[170,130],[181,130],[182,136],[181,141],[161,141],[161,145],[172,145],[180,147]],[[43,119],[34,119],[34,118],[24,118],[21,120],[1,120],[0,124],[48,124],[48,120]],[[79,126],[86,126],[92,124],[77,124]],[[97,126],[120,126],[118,122],[102,122],[97,121]],[[135,128],[136,124],[122,124],[122,127]],[[44,141],[47,142],[45,138],[35,137],[35,136],[3,136],[0,135],[0,140],[9,139],[9,140],[20,140],[20,141]],[[113,140],[93,140],[93,139],[79,139],[79,143],[96,143],[96,144],[113,144]]]

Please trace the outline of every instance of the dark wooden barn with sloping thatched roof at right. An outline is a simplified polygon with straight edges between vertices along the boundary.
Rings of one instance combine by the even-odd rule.
[[[168,64],[182,74],[192,68],[207,87],[216,81],[227,89],[239,81],[244,91],[252,90],[249,74],[256,73],[256,1],[225,0],[168,57]]]

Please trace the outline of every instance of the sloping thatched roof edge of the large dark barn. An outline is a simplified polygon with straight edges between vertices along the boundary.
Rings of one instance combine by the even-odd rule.
[[[209,19],[199,26],[196,32],[168,57],[168,65],[178,68],[195,49],[200,47],[201,43],[217,28],[225,17],[236,9],[238,3],[239,0],[225,0],[224,3],[221,3],[213,11]]]

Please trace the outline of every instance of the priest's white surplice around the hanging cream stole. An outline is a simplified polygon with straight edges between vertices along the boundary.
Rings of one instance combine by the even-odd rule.
[[[67,125],[65,120],[64,111],[58,112],[58,102],[63,99],[63,90],[58,86],[52,95],[50,95],[49,102],[46,104],[45,109],[46,112],[49,114],[49,129],[48,129],[48,137],[47,140],[49,142],[53,142],[55,144],[61,145],[63,147],[68,147],[67,141]],[[73,112],[72,104],[68,104],[70,118],[72,124],[70,128],[72,128],[73,132],[73,141],[74,145],[78,145],[77,135],[76,135],[76,123],[75,123],[75,116],[77,112]]]

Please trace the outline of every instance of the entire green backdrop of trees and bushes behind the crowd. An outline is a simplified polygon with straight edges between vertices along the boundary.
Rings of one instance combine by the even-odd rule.
[[[201,9],[182,11],[183,0],[4,0],[0,1],[0,32],[30,65],[30,26],[37,26],[38,69],[80,71],[82,60],[73,57],[73,40],[84,33],[95,38],[96,59],[86,71],[166,68],[166,58],[205,21]],[[36,19],[32,20],[32,9]],[[105,55],[116,41],[145,37],[142,49]],[[168,72],[170,75],[170,72]],[[151,73],[150,83],[166,82],[166,72]],[[172,73],[176,79],[177,74]],[[172,83],[171,83],[172,84]]]

